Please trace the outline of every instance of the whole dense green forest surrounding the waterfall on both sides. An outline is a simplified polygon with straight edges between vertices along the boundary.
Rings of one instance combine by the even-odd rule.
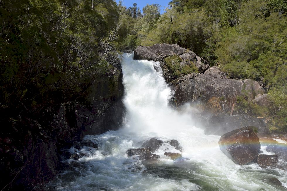
[[[12,123],[55,102],[75,99],[117,62],[117,52],[178,44],[251,78],[270,95],[271,130],[286,130],[286,1],[173,0],[142,11],[112,0],[0,2],[1,113]],[[258,110],[238,99],[246,112]],[[16,111],[15,111],[16,110]]]

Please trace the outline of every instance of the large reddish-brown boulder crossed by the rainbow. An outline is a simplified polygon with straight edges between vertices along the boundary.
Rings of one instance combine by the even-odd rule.
[[[255,161],[260,151],[256,128],[246,126],[222,135],[218,141],[220,150],[235,164],[244,165]]]

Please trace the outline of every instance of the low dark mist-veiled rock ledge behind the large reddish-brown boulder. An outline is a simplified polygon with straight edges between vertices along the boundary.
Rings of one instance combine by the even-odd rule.
[[[264,130],[266,124],[264,119],[252,117],[246,114],[234,116],[226,114],[216,114],[211,117],[202,118],[202,124],[206,127],[205,135],[223,135],[229,131],[245,126],[255,126],[259,130]],[[269,131],[269,130],[268,130]]]

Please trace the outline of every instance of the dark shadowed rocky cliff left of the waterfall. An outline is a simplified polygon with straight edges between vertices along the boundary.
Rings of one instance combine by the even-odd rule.
[[[84,135],[120,127],[124,115],[122,70],[112,68],[77,99],[6,121],[0,136],[3,190],[43,190],[61,169],[62,149]]]

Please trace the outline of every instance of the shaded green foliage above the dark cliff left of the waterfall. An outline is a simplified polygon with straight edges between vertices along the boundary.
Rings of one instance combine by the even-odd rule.
[[[98,56],[119,19],[112,0],[4,0],[0,15],[0,108],[16,110],[7,117],[81,97],[112,70]]]

